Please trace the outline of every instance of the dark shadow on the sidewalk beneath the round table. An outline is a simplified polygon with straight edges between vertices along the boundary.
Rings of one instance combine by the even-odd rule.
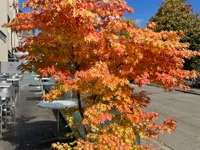
[[[49,141],[41,143],[55,137],[56,122],[55,121],[34,121],[36,117],[30,118],[16,118],[16,125],[9,127],[3,132],[1,140],[8,142],[15,148],[13,150],[50,150],[52,142]],[[60,132],[59,136],[64,137],[66,133],[71,132],[69,128],[65,128],[66,124],[60,118]],[[71,142],[74,139],[64,139],[62,142]]]

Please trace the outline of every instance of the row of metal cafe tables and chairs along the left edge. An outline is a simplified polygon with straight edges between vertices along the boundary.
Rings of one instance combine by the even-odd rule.
[[[16,101],[20,94],[22,75],[0,74],[0,137],[8,124],[15,125]]]

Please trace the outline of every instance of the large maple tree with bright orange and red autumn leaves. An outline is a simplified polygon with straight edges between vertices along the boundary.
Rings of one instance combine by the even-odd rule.
[[[23,6],[33,11],[18,13],[5,25],[16,32],[40,30],[17,49],[28,52],[22,70],[58,79],[46,100],[73,91],[78,99],[74,109],[81,115],[86,135],[74,147],[69,143],[54,147],[150,149],[138,145],[137,134],[156,138],[160,132],[175,130],[173,119],[155,123],[158,113],[144,111],[149,95],[135,92],[129,81],[139,86],[155,83],[165,90],[187,88],[184,79],[195,78],[196,72],[183,70],[183,59],[199,53],[179,42],[180,33],[154,32],[124,21],[124,12],[133,12],[124,0],[28,0]],[[74,109],[67,111],[72,126]]]

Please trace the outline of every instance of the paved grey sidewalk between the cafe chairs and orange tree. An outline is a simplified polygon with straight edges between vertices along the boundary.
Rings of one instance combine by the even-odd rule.
[[[0,150],[50,150],[51,142],[40,144],[42,140],[54,137],[56,118],[52,110],[39,108],[36,104],[41,95],[38,89],[27,84],[21,88],[17,101],[16,126],[10,127],[0,139]],[[69,132],[60,119],[61,134]]]

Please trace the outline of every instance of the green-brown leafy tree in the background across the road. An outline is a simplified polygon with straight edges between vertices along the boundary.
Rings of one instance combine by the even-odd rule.
[[[186,4],[185,0],[165,0],[150,21],[157,23],[155,31],[158,32],[182,30],[181,42],[188,42],[191,50],[200,51],[199,14],[194,13],[192,5]],[[200,71],[200,57],[185,61],[185,69]]]

